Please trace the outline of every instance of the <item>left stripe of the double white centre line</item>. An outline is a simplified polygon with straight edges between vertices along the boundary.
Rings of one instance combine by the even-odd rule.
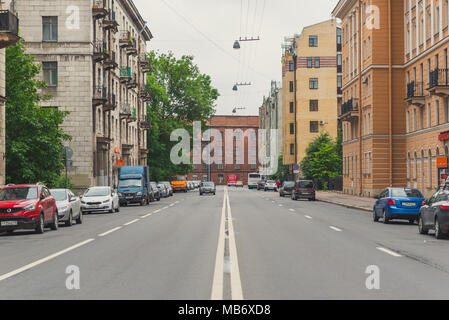
[[[214,270],[214,279],[212,282],[211,300],[223,300],[225,215],[226,215],[226,192],[223,196],[223,207],[221,209],[220,229],[218,232],[217,256],[215,257],[215,270]]]

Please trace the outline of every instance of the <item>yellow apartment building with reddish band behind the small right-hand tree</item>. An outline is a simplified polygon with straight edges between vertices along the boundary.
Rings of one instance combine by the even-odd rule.
[[[283,159],[292,169],[320,133],[338,135],[340,39],[340,28],[331,19],[305,27],[283,45]]]

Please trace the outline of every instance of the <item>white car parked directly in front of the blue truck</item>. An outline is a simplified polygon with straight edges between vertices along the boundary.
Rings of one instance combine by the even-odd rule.
[[[114,213],[120,211],[118,194],[111,187],[92,187],[81,198],[81,211]]]

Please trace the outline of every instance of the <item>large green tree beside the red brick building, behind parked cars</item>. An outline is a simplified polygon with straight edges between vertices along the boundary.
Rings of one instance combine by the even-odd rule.
[[[193,134],[192,124],[206,120],[215,110],[214,103],[219,94],[211,85],[211,78],[202,74],[192,56],[180,59],[172,53],[152,51],[148,54],[151,72],[147,74],[147,88],[151,92],[148,117],[148,165],[153,180],[167,180],[176,174],[192,171],[191,165],[174,165],[170,151],[177,142],[170,141],[175,129],[186,129]]]

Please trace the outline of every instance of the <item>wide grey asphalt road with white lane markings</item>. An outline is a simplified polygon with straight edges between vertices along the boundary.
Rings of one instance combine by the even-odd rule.
[[[218,188],[0,234],[0,299],[449,299],[448,248],[364,211]]]

